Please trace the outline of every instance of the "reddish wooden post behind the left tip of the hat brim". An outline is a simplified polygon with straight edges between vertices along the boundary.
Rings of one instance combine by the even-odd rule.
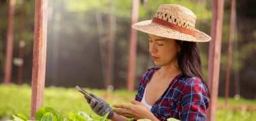
[[[139,19],[139,0],[133,0],[132,9],[131,9],[131,25],[137,23],[138,19]],[[127,75],[128,91],[133,91],[134,89],[136,51],[137,51],[137,30],[131,28],[128,75]]]

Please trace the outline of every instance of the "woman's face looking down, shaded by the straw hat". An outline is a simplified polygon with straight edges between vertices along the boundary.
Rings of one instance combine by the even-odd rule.
[[[156,66],[172,66],[179,51],[179,44],[174,39],[148,34],[150,53]],[[177,63],[177,62],[176,62]],[[175,64],[177,65],[177,64]]]

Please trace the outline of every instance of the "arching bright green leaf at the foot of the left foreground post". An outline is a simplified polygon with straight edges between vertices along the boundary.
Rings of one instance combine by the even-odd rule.
[[[41,120],[42,116],[44,116],[45,113],[51,112],[53,114],[53,121],[62,121],[61,115],[57,110],[51,108],[51,107],[41,107],[38,109],[38,111],[35,114],[36,120]]]

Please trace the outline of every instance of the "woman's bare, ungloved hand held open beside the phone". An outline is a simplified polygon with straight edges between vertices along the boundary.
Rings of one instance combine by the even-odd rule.
[[[150,119],[150,120],[158,120],[152,112],[148,109],[147,106],[142,104],[141,102],[137,102],[136,100],[131,99],[131,104],[133,105],[125,105],[125,104],[117,104],[113,105],[115,108],[123,108],[123,109],[113,109],[113,112],[119,114],[120,116],[125,116],[126,118],[135,118],[138,119]]]

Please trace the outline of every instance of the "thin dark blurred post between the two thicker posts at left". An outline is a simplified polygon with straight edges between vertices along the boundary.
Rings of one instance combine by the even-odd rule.
[[[24,30],[24,4],[25,0],[22,0],[22,9],[20,10],[20,50],[19,50],[19,58],[22,60],[22,65],[19,66],[18,69],[18,85],[22,85],[23,78],[23,48],[25,46],[25,41],[23,40],[23,30]]]

